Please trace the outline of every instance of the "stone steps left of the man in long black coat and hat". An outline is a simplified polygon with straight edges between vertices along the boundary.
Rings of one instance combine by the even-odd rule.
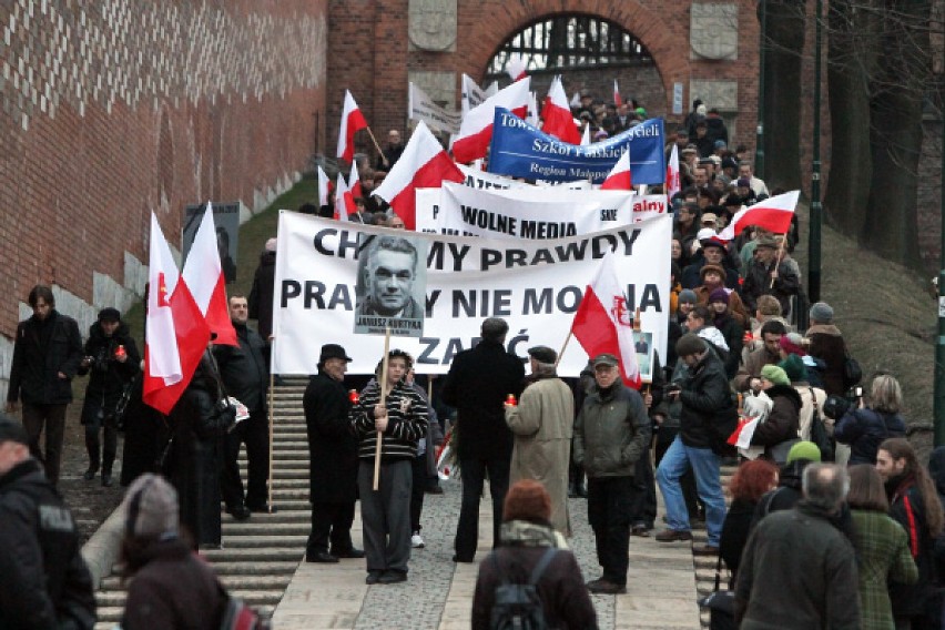
[[[305,553],[311,529],[308,504],[308,443],[302,397],[308,379],[285,378],[276,386],[273,427],[272,515],[254,514],[238,522],[223,515],[223,548],[201,551],[213,565],[226,589],[235,597],[272,614],[282,599]],[[243,481],[246,480],[245,453],[240,454]],[[95,593],[99,623],[96,630],[114,628],[124,611],[125,589],[118,577],[102,580]]]

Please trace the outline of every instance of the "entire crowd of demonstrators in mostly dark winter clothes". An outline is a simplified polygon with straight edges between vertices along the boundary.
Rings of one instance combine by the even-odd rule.
[[[573,113],[596,139],[647,115],[637,103],[581,103]],[[720,238],[739,209],[770,193],[744,148],[729,149],[719,112],[693,103],[668,152],[673,144],[683,185],[671,200],[670,343],[656,357],[652,383],[627,386],[612,354],[590,357],[579,379],[561,378],[552,348],[529,348],[527,359],[507,352],[508,324],[496,317],[482,322],[478,345],[453,359],[435,395],[416,382],[405,352],[377,357],[374,377],[353,388],[346,349],[323,345],[303,400],[306,561],[364,559],[367,585],[409,579],[411,553],[425,547],[424,495],[443,492],[434,453],[448,417],[461,470],[455,562],[475,561],[487,479],[494,510],[474,628],[515,614],[516,593],[501,590],[509,583],[532,588],[540,611],[528,614],[540,612],[551,627],[596,628],[590,593],[624,593],[634,579],[631,538],[690,543],[700,522],[708,540],[692,552],[718,556],[728,568],[733,621],[742,628],[942,627],[945,449],[923,467],[904,439],[898,382],[876,374],[864,392],[851,374],[833,308],[806,303],[791,256],[795,233],[750,228],[735,241]],[[370,194],[403,149],[392,131],[374,167],[362,165],[353,221],[404,227]],[[228,598],[194,551],[220,547],[221,502],[236,520],[275,510],[267,388],[276,255],[271,240],[248,297],[230,297],[237,345],[207,347],[166,417],[141,404],[140,354],[116,309],[99,314],[83,347],[50,288],[30,293],[33,316],[17,331],[8,395],[8,411],[22,405],[22,424],[0,419],[0,538],[18,541],[0,551],[0,626],[55,619],[87,628],[94,620],[74,525],[55,492],[71,382],[83,374],[91,375],[82,409],[85,480],[101,470],[102,485],[113,482],[116,434],[126,430],[122,553],[131,581],[123,627],[163,627],[192,608],[205,616],[194,627],[219,626]],[[245,406],[238,420],[231,397]],[[729,438],[748,420],[753,434],[735,448]],[[730,506],[723,463],[738,466]],[[588,500],[600,576],[586,582],[568,550],[569,495]],[[350,535],[357,500],[364,549]],[[176,579],[182,575],[186,581]]]

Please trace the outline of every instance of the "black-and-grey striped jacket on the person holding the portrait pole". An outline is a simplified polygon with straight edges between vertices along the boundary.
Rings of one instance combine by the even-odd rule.
[[[380,387],[370,383],[360,393],[360,400],[352,408],[350,420],[358,438],[358,457],[374,459],[377,429],[374,426],[374,407],[380,403]],[[427,434],[427,403],[411,387],[398,383],[387,393],[387,430],[380,443],[382,461],[413,459],[417,456],[417,440]]]

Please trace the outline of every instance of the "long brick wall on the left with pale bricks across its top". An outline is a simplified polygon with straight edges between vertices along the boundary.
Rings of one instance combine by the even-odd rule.
[[[187,203],[291,184],[324,124],[326,30],[327,0],[0,3],[0,334],[33,284],[91,308],[139,283],[152,211],[174,244]]]

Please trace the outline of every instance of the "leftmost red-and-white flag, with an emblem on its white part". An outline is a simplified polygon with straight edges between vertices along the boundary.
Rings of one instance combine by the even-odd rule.
[[[206,345],[210,327],[151,214],[148,315],[144,321],[144,403],[170,414],[193,378]]]

